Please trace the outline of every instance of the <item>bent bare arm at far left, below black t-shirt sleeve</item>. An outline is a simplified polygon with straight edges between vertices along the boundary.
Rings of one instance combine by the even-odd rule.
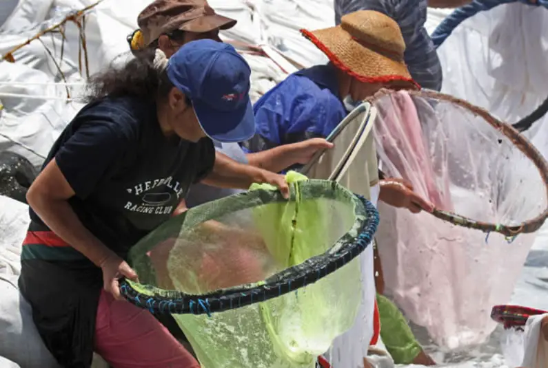
[[[30,186],[27,201],[55,234],[101,267],[114,252],[83,226],[68,204],[68,199],[73,196],[74,191],[70,184],[61,173],[57,162],[52,160]]]

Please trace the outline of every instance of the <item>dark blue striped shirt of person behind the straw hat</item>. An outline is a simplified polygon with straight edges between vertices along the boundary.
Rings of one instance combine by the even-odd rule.
[[[376,10],[398,22],[407,46],[405,63],[414,80],[420,87],[441,89],[440,60],[424,27],[427,0],[335,0],[336,24],[344,14],[358,10]]]

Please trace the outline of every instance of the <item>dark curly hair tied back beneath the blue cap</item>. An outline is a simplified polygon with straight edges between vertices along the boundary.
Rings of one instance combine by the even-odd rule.
[[[154,53],[154,50],[148,52]],[[165,71],[161,72],[154,67],[153,55],[132,58],[123,65],[110,65],[105,71],[92,76],[85,101],[92,102],[106,96],[133,96],[145,100],[167,96],[173,84]]]

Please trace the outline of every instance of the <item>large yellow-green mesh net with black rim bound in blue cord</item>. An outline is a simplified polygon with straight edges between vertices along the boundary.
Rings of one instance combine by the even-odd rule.
[[[205,368],[314,367],[352,327],[376,209],[335,182],[288,173],[170,219],[130,252],[125,297],[170,313]]]

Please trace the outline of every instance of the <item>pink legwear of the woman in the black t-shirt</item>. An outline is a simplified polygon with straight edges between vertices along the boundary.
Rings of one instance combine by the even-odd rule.
[[[128,301],[101,291],[95,351],[114,368],[199,368],[194,357],[159,321]]]

